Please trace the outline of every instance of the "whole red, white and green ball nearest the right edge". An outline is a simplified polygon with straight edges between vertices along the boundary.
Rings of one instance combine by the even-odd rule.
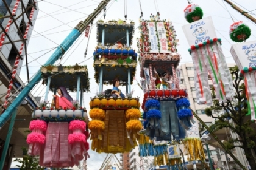
[[[243,42],[251,36],[251,29],[242,21],[235,22],[230,26],[229,36],[234,42]]]

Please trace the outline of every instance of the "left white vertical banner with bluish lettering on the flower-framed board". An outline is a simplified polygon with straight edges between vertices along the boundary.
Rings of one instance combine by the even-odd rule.
[[[148,29],[149,29],[149,40],[151,43],[150,52],[159,53],[157,32],[155,32],[155,22],[148,22]]]

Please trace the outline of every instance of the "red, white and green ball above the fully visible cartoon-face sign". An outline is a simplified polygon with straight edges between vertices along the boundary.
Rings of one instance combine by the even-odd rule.
[[[185,19],[189,23],[192,23],[194,21],[202,19],[202,16],[204,15],[204,13],[202,12],[201,7],[199,7],[199,5],[196,5],[196,4],[189,4],[185,8],[184,14],[185,14]]]

